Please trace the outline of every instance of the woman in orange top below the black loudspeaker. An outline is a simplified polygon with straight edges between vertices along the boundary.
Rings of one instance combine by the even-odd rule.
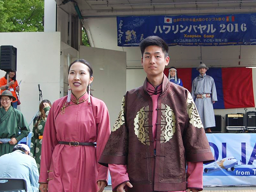
[[[0,89],[1,89],[1,94],[4,90],[6,90],[6,85],[7,85],[7,73],[4,77],[0,79]],[[9,73],[9,91],[12,92],[12,96],[15,97],[15,100],[12,101],[12,106],[13,108],[17,109],[17,94],[16,91],[20,91],[20,87],[18,85],[18,82],[16,80],[16,72],[11,71]]]

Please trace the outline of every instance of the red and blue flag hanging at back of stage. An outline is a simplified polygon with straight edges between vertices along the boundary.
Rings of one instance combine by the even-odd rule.
[[[164,73],[168,76],[169,69]],[[215,81],[218,102],[215,109],[255,107],[252,69],[246,67],[210,68],[206,72]],[[183,87],[191,91],[192,81],[199,75],[196,68],[177,68]]]

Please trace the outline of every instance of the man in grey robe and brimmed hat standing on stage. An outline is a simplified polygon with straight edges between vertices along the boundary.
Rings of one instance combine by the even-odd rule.
[[[214,79],[206,74],[208,69],[209,68],[204,63],[201,63],[196,68],[200,75],[192,82],[191,94],[204,128],[207,128],[207,133],[212,133],[210,128],[215,127],[215,117],[212,104],[218,101],[218,99]]]

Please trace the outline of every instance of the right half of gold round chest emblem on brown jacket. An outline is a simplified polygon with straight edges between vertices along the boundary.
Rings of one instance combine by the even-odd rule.
[[[166,123],[166,125],[161,128],[160,143],[166,143],[172,139],[176,131],[176,117],[174,111],[168,105],[162,103],[162,109],[166,110],[162,110],[161,124]]]

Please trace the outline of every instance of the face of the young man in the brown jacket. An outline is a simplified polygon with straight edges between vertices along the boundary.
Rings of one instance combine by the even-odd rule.
[[[147,73],[147,77],[154,77],[163,73],[169,61],[169,56],[165,57],[162,48],[156,45],[146,47],[143,57],[141,58],[141,64],[144,71]]]

